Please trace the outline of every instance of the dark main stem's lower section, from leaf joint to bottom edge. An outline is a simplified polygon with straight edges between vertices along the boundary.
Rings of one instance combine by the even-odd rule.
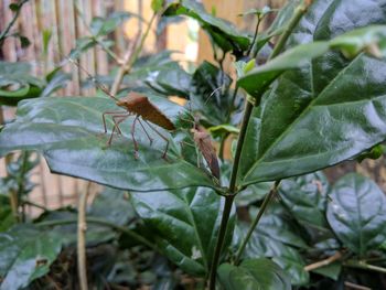
[[[216,273],[217,273],[217,266],[218,266],[218,260],[219,256],[224,246],[224,240],[226,236],[226,229],[230,216],[230,211],[232,211],[232,205],[233,205],[233,200],[235,198],[235,195],[227,195],[225,196],[225,204],[224,204],[224,211],[223,211],[223,217],[222,217],[222,224],[219,226],[219,232],[218,232],[218,238],[217,238],[217,244],[214,250],[214,256],[212,259],[212,265],[211,265],[211,271],[210,271],[210,290],[215,290],[216,289]]]

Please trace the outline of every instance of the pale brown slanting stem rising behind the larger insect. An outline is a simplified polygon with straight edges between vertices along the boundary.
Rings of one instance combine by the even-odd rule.
[[[129,50],[128,53],[126,54],[125,60],[124,60],[124,64],[119,67],[117,76],[116,76],[116,78],[114,80],[114,84],[112,84],[112,87],[111,87],[111,95],[116,95],[118,93],[119,86],[122,83],[125,74],[130,73],[130,71],[132,68],[132,65],[136,63],[139,54],[141,53],[141,51],[143,49],[144,41],[148,37],[149,32],[151,30],[151,26],[152,26],[152,24],[153,24],[156,19],[157,19],[157,13],[154,12],[153,15],[150,19],[148,28],[144,31],[144,33],[143,33],[143,35],[141,37],[141,41],[138,44],[138,46],[137,46],[137,41],[135,41],[135,44],[132,46],[132,50],[133,50],[132,53],[131,53],[131,50]]]

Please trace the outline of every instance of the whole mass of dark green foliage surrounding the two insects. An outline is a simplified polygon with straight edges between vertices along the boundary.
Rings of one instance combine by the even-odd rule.
[[[203,62],[187,73],[165,51],[136,60],[125,75],[117,97],[144,94],[176,127],[168,132],[154,125],[170,142],[165,159],[165,141],[149,129],[150,143],[140,126],[133,135],[139,144],[136,159],[132,117],[120,123],[121,135],[107,144],[114,122],[107,118],[105,133],[101,116],[119,107],[100,92],[95,97],[53,97],[68,79],[58,68],[41,80],[29,74],[26,64],[0,64],[1,104],[41,97],[18,104],[15,120],[0,132],[1,155],[35,150],[53,172],[130,191],[107,189],[87,212],[93,286],[201,289],[210,278],[214,289],[217,277],[219,289],[227,290],[342,289],[346,281],[383,289],[383,277],[371,271],[386,271],[384,193],[362,175],[330,184],[315,171],[383,153],[386,1],[314,1],[278,53],[280,46],[269,42],[290,32],[286,30],[293,15],[305,11],[302,2],[289,1],[251,43],[250,36],[195,1],[152,1],[154,12],[165,8],[163,14],[172,20],[197,20],[211,36],[217,62]],[[247,13],[260,20],[271,12]],[[115,58],[108,34],[129,17],[117,12],[95,18],[90,35],[78,39],[71,56],[99,45]],[[46,32],[45,50],[49,41]],[[218,49],[224,56],[236,56],[235,79],[223,71]],[[97,76],[97,82],[111,85],[116,72]],[[169,96],[187,104],[176,105]],[[239,127],[244,107],[251,115],[243,121],[247,127]],[[221,152],[228,136],[240,140],[239,150],[233,150],[234,163],[221,162],[221,182],[193,143],[193,121],[218,141]],[[29,284],[39,289],[44,279],[74,276],[76,211],[44,212],[35,225],[14,225],[9,196],[25,196],[32,187],[29,178],[35,163],[29,155],[23,151],[1,180],[1,290]],[[274,196],[270,203],[267,196]],[[257,215],[267,204],[266,213]],[[254,221],[258,226],[248,232]],[[245,240],[247,233],[251,235]],[[245,250],[239,251],[244,241]],[[20,266],[25,271],[14,282]]]

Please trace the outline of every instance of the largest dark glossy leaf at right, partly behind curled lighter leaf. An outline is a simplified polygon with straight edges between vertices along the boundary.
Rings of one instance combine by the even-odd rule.
[[[290,37],[289,46],[351,31],[360,24],[347,22],[342,29],[339,19],[356,18],[363,11],[372,17],[361,25],[386,23],[385,9],[373,2],[317,2]],[[339,51],[329,51],[300,69],[286,72],[265,95],[261,107],[253,111],[238,184],[317,171],[382,142],[386,136],[385,67],[384,60],[366,54],[347,60]]]

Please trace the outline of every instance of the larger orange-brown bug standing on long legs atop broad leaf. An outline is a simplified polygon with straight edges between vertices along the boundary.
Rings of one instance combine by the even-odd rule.
[[[168,153],[169,149],[169,139],[164,137],[161,132],[159,132],[151,123],[158,125],[162,127],[163,129],[167,129],[169,131],[175,130],[174,125],[172,121],[163,115],[163,112],[156,107],[147,96],[141,95],[136,92],[130,92],[127,97],[118,99],[117,97],[112,96],[106,87],[103,85],[98,84],[97,80],[95,79],[94,76],[92,76],[85,68],[83,68],[78,63],[73,61],[72,58],[67,58],[69,62],[74,63],[77,67],[79,67],[83,72],[87,74],[89,78],[93,79],[97,84],[97,86],[110,98],[112,98],[117,106],[121,107],[125,109],[125,111],[105,111],[101,116],[103,122],[104,122],[104,129],[105,133],[107,133],[107,126],[106,126],[106,115],[111,116],[112,121],[114,121],[114,127],[110,135],[110,138],[107,141],[107,144],[110,146],[112,142],[112,137],[115,131],[117,131],[119,135],[121,135],[121,130],[119,128],[119,125],[125,121],[128,117],[135,116],[135,119],[131,125],[131,138],[132,142],[135,144],[135,158],[138,159],[138,142],[136,139],[136,125],[137,121],[139,125],[142,127],[146,136],[148,137],[150,144],[152,143],[153,139],[149,136],[148,131],[146,130],[141,119],[143,122],[146,122],[151,130],[153,130],[159,137],[161,137],[165,142],[165,149],[163,151],[162,158],[164,159]]]

